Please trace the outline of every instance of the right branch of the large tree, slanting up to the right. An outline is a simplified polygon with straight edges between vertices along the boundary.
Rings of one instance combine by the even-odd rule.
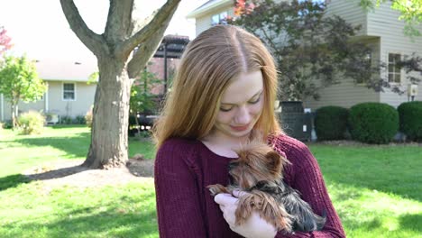
[[[150,38],[157,38],[157,32],[161,32],[162,29],[164,29],[164,31],[161,35],[164,34],[165,29],[170,23],[171,17],[178,8],[179,2],[180,0],[168,0],[165,5],[161,6],[150,23],[145,25],[141,31],[136,32],[129,40],[124,41],[123,44],[119,44],[116,51],[129,55],[139,44],[147,40],[149,41]]]

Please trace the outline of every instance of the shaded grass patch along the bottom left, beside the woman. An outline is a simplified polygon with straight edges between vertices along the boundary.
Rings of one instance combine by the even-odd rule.
[[[11,237],[28,233],[45,237],[159,237],[156,213],[150,211],[127,212],[118,206],[97,212],[98,207],[71,209],[60,218],[46,222],[34,218],[19,224],[6,224],[3,228]],[[40,231],[42,232],[40,233]]]

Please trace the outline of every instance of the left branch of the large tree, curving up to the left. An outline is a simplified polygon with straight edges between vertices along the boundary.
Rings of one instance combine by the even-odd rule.
[[[84,22],[78,12],[73,0],[60,0],[61,9],[65,14],[66,19],[70,25],[70,28],[78,36],[79,40],[87,46],[87,49],[91,50],[96,56],[102,51],[105,51],[105,41],[101,35],[92,32],[87,24]]]

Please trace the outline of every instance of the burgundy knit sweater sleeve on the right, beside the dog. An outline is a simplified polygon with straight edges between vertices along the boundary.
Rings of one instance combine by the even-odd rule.
[[[290,187],[298,190],[301,198],[312,207],[317,215],[326,213],[326,224],[321,231],[297,232],[288,236],[278,233],[276,237],[345,237],[340,218],[328,196],[326,184],[315,157],[302,142],[288,136],[280,136],[276,140],[276,147],[280,151],[284,151],[287,159],[291,162]]]

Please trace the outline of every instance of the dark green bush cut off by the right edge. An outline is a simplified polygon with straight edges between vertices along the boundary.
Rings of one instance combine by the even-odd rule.
[[[422,102],[408,102],[399,105],[399,129],[408,139],[422,140]]]

